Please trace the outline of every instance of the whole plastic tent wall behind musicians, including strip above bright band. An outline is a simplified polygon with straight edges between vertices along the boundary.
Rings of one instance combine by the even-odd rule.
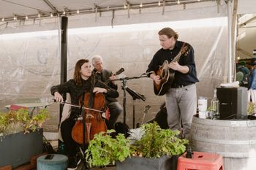
[[[134,12],[130,18],[120,12],[113,28],[110,20],[108,13],[103,13],[96,21],[94,15],[69,17],[68,80],[72,78],[76,61],[91,59],[93,55],[102,55],[105,68],[113,72],[123,67],[125,72],[120,77],[140,76],[146,72],[148,63],[160,48],[157,32],[163,27],[171,27],[180,35],[179,40],[194,47],[200,80],[197,96],[205,96],[210,101],[214,88],[227,82],[225,4],[220,6],[219,12],[215,2],[206,3],[204,8],[192,5],[186,10],[169,7],[165,9],[165,15],[161,9],[145,9],[142,14]],[[36,20],[27,25],[10,23],[0,26],[1,111],[7,111],[4,108],[7,104],[26,100],[50,101],[50,87],[60,82],[58,33],[59,18]],[[136,123],[141,123],[146,105],[151,109],[145,120],[151,120],[164,101],[163,97],[154,95],[153,82],[141,78],[128,80],[127,86],[146,96],[146,101],[136,100]],[[118,101],[122,104],[121,82],[118,82],[118,92]],[[48,108],[52,118],[46,123],[45,131],[57,131],[59,104],[51,104]],[[128,93],[127,124],[132,127],[132,97]]]

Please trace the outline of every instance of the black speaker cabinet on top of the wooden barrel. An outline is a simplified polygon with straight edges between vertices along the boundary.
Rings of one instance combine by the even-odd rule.
[[[247,88],[217,88],[217,98],[221,120],[246,117]]]

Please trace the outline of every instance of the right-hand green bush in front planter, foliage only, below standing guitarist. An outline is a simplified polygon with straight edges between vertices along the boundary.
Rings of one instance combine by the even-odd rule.
[[[163,155],[180,155],[185,152],[187,139],[179,139],[179,131],[162,129],[154,123],[146,123],[142,126],[144,134],[142,138],[131,146],[132,155],[145,158],[160,158]]]

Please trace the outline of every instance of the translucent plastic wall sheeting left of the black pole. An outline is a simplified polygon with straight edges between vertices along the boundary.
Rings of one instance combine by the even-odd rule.
[[[53,81],[59,80],[59,24],[47,27],[53,31],[4,34],[5,29],[0,30],[1,111],[7,111],[7,104],[46,101]]]

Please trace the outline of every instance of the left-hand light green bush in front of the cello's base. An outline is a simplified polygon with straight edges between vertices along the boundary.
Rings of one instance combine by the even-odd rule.
[[[86,150],[86,160],[89,166],[107,166],[110,163],[115,164],[116,161],[124,161],[130,156],[129,140],[124,134],[118,134],[116,138],[112,138],[111,133],[114,130],[100,132],[94,135],[94,139],[89,142]]]

